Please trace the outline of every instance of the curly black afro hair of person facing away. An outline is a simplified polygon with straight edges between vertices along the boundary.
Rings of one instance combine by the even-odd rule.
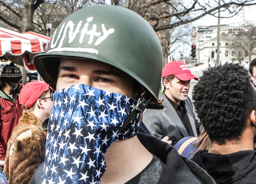
[[[248,115],[256,110],[256,92],[248,71],[238,64],[224,64],[203,72],[194,86],[195,112],[211,142],[238,141]]]

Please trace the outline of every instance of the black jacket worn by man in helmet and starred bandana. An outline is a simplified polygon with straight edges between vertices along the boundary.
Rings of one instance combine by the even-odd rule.
[[[166,164],[163,174],[159,179],[159,184],[214,184],[213,178],[207,172],[201,169],[191,160],[179,155],[177,150],[153,136],[139,133],[138,139],[143,146],[152,154],[157,156],[164,164]],[[31,184],[41,184],[43,173],[43,164],[35,172]]]

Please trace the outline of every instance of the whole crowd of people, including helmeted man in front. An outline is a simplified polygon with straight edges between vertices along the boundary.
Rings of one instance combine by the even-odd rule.
[[[256,183],[256,59],[200,78],[162,68],[146,20],[97,5],[66,17],[34,63],[45,82],[22,87],[13,63],[0,77],[1,184]]]

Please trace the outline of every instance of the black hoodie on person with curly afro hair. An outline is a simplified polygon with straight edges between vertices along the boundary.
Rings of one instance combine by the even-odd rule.
[[[192,158],[214,178],[216,183],[256,183],[256,151],[247,150],[227,155],[199,150]]]

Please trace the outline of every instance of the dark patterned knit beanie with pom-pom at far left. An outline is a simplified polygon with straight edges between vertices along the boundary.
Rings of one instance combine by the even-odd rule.
[[[15,66],[13,63],[10,63],[10,65],[3,67],[0,79],[10,88],[16,90],[19,86],[19,80],[22,79],[22,73],[19,67]]]

